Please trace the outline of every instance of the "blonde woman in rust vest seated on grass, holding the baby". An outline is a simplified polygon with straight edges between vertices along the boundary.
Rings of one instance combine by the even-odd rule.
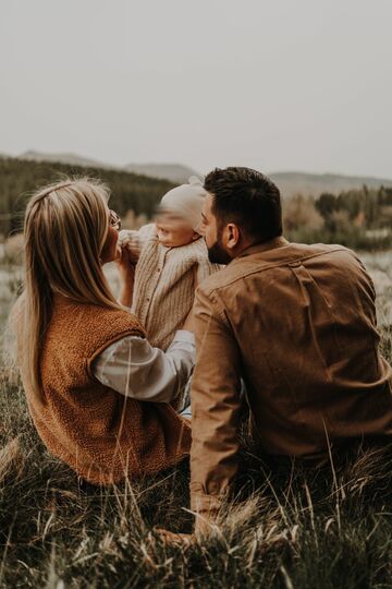
[[[157,472],[188,453],[188,422],[169,401],[187,382],[195,351],[188,332],[179,332],[166,353],[151,348],[112,294],[102,265],[119,257],[120,223],[108,197],[103,184],[87,179],[32,197],[25,287],[12,315],[38,434],[95,484]],[[133,269],[126,261],[121,269],[126,299]]]

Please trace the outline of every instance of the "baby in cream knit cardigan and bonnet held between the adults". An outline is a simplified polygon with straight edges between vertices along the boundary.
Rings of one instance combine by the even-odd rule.
[[[132,311],[150,344],[162,350],[182,328],[196,287],[221,267],[209,262],[200,235],[205,196],[193,176],[187,184],[164,194],[155,224],[120,232],[121,247],[137,257]]]

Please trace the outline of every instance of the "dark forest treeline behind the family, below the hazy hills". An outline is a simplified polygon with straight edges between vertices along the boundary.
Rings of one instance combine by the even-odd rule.
[[[22,229],[23,213],[30,194],[41,185],[64,176],[100,178],[111,189],[110,206],[125,226],[154,215],[161,196],[174,184],[132,172],[85,168],[64,164],[37,163],[16,158],[0,159],[0,233]],[[283,202],[285,235],[305,243],[342,243],[354,249],[377,250],[392,247],[392,188],[322,193],[316,197],[297,194]]]

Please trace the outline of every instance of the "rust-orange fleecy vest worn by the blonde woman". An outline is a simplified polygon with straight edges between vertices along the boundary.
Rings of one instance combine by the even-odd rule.
[[[126,398],[93,376],[96,356],[127,335],[144,336],[131,313],[57,296],[40,364],[45,405],[26,390],[48,449],[95,484],[162,470],[191,445],[188,423],[169,405]]]

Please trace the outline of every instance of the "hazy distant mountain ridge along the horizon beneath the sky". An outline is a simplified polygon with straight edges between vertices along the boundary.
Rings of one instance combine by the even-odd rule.
[[[7,157],[5,154],[1,154]],[[174,183],[186,182],[189,176],[200,176],[188,166],[182,164],[128,164],[124,167],[110,166],[95,159],[79,156],[73,153],[45,154],[28,151],[19,156],[19,159],[35,161],[60,161],[71,166],[83,166],[105,169],[123,170],[133,173],[170,180]],[[296,171],[278,171],[269,173],[278,184],[283,196],[290,197],[295,194],[318,196],[322,192],[338,194],[342,191],[360,189],[366,184],[369,189],[378,189],[381,185],[392,188],[392,180],[371,176],[345,176],[335,173],[307,173]]]

